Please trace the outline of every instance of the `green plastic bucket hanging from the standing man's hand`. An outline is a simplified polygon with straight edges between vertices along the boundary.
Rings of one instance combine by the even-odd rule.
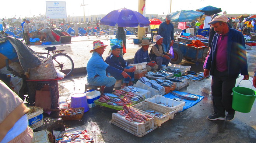
[[[241,82],[241,81],[240,81]],[[240,83],[239,83],[240,84]],[[256,91],[246,87],[234,87],[232,108],[242,113],[249,113],[256,98]]]

